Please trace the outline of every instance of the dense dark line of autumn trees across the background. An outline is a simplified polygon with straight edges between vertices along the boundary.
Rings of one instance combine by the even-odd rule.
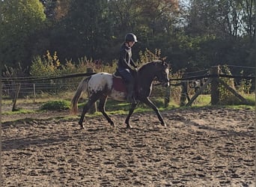
[[[46,52],[61,63],[111,64],[132,32],[139,52],[161,50],[173,70],[255,67],[255,0],[1,0],[0,61],[31,67]]]

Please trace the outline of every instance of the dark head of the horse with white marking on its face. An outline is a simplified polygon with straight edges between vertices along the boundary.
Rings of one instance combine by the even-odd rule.
[[[156,70],[156,79],[161,82],[163,87],[168,87],[170,85],[168,64],[159,60],[156,63]]]

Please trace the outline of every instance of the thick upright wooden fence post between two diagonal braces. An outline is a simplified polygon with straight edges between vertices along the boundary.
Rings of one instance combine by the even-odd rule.
[[[219,103],[219,72],[219,66],[212,67],[210,70],[210,74],[213,75],[213,79],[211,81],[210,86],[210,96],[212,105],[217,105]]]

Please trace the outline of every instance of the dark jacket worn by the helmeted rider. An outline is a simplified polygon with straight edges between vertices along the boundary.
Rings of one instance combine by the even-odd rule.
[[[132,49],[127,47],[125,43],[122,44],[120,50],[120,56],[118,60],[118,69],[129,69],[136,67],[134,61],[132,61]]]

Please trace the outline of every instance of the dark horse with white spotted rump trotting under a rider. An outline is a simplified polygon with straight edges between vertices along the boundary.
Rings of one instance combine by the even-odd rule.
[[[100,100],[98,110],[106,117],[106,120],[110,123],[111,126],[115,126],[114,122],[111,120],[108,114],[106,114],[105,105],[108,97],[118,100],[118,101],[126,101],[127,100],[127,91],[124,87],[124,79],[118,77],[118,73],[110,74],[110,73],[96,73],[94,75],[88,76],[83,79],[76,90],[76,93],[73,96],[71,101],[71,112],[76,114],[78,111],[77,103],[79,101],[82,93],[88,93],[88,102],[85,104],[82,109],[82,114],[79,120],[79,125],[81,129],[85,129],[83,126],[83,120],[85,114],[91,108],[91,106],[98,99]],[[121,76],[119,74],[119,76]],[[135,76],[135,100],[136,102],[132,102],[129,108],[129,114],[125,120],[127,124],[127,129],[132,128],[129,125],[129,118],[131,117],[136,105],[138,102],[144,102],[144,104],[148,105],[153,111],[156,112],[156,115],[162,124],[162,126],[166,126],[164,120],[162,119],[162,115],[159,113],[159,109],[153,102],[150,101],[149,96],[152,91],[153,80],[157,80],[159,85],[162,87],[169,86],[169,67],[165,61],[162,60],[153,60],[143,64],[136,71]],[[121,83],[121,84],[120,84]],[[123,89],[117,87],[116,85],[123,86]]]

